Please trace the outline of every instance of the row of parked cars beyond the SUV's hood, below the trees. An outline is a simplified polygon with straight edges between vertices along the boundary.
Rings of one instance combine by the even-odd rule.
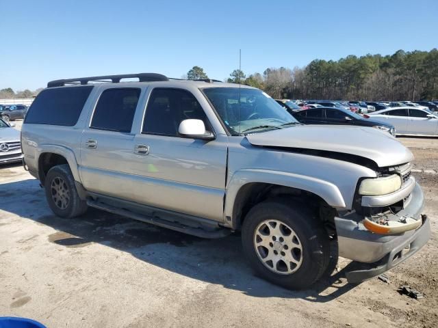
[[[372,126],[394,136],[396,134],[438,135],[438,107],[435,102],[338,102],[287,99],[278,99],[276,102],[302,124]]]

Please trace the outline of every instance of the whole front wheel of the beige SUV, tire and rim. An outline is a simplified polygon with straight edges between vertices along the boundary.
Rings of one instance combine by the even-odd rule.
[[[242,226],[242,244],[255,272],[289,289],[314,284],[330,262],[330,243],[322,223],[294,202],[254,206]]]

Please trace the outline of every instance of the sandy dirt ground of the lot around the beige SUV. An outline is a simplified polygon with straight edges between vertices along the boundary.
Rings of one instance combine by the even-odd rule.
[[[92,209],[60,219],[21,166],[1,167],[0,313],[48,327],[436,327],[438,139],[400,141],[426,193],[428,245],[389,271],[389,284],[348,285],[341,261],[301,292],[254,277],[239,236],[203,240]],[[399,295],[402,284],[426,298]]]

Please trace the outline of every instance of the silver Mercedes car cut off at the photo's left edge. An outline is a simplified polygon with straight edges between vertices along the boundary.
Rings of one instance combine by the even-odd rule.
[[[20,162],[23,159],[20,132],[13,126],[13,123],[0,119],[0,164]]]

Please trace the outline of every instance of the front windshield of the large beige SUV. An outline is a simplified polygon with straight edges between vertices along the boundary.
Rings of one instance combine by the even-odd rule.
[[[205,96],[216,109],[231,135],[256,133],[298,121],[268,94],[258,89],[206,87]],[[240,94],[240,98],[239,98]]]

